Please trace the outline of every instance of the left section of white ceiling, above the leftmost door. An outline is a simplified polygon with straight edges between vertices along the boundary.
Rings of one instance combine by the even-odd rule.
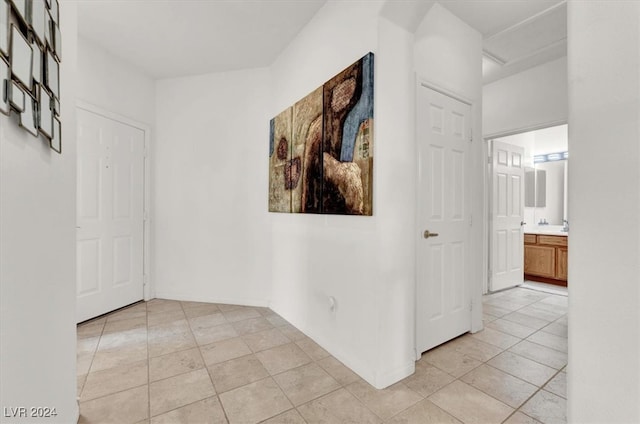
[[[78,32],[153,78],[269,66],[326,0],[83,0]]]

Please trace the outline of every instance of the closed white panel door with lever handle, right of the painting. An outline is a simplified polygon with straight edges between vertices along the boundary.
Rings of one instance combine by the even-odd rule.
[[[469,104],[418,87],[418,355],[471,329],[471,129]]]

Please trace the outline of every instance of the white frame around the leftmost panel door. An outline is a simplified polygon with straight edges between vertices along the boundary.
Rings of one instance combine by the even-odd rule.
[[[130,127],[137,128],[144,133],[144,170],[143,170],[143,231],[142,231],[142,287],[143,299],[151,300],[155,297],[155,287],[151,278],[151,158],[149,145],[151,142],[151,126],[126,116],[108,111],[94,104],[76,100],[76,109],[102,116],[103,118],[119,122]]]

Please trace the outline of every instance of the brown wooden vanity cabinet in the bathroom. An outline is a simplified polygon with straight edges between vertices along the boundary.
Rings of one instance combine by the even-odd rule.
[[[567,286],[567,234],[524,234],[524,278]]]

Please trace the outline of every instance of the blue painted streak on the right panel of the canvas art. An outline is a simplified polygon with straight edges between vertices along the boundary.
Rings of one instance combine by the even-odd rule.
[[[353,161],[360,124],[369,118],[373,118],[373,53],[362,58],[362,94],[344,122],[340,161]]]

